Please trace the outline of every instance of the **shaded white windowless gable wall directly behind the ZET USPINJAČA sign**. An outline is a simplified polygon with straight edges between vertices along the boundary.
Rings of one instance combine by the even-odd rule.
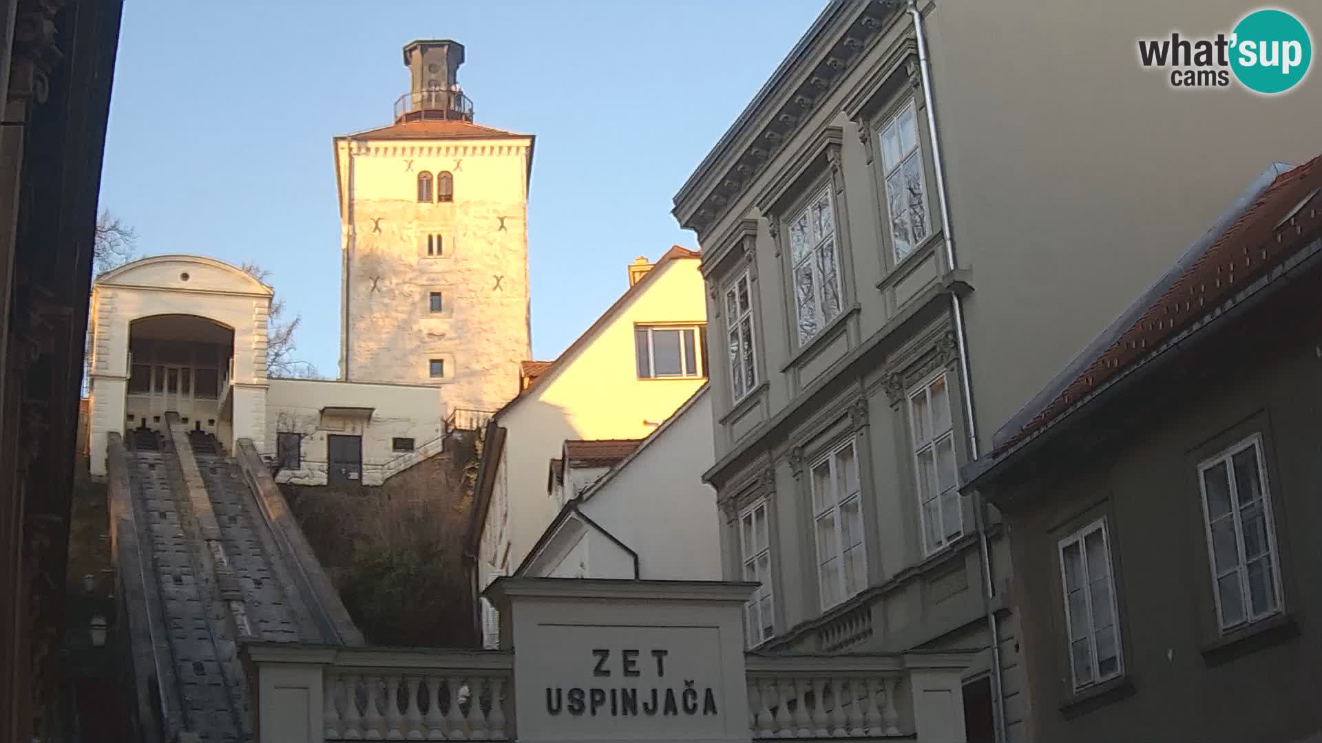
[[[702,481],[713,452],[711,395],[705,390],[590,492],[579,510],[639,554],[642,579],[720,580],[717,492]],[[605,576],[596,575],[595,562],[591,568],[594,578]]]

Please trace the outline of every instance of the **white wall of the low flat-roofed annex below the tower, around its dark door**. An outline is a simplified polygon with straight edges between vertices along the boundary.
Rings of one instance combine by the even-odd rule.
[[[369,420],[323,416],[323,407],[370,407]],[[446,406],[435,387],[370,385],[329,379],[271,379],[264,430],[266,456],[276,455],[276,434],[303,434],[299,471],[282,471],[279,483],[325,485],[327,435],[362,436],[362,483],[379,485],[443,448]],[[414,440],[414,451],[395,452],[391,439]]]

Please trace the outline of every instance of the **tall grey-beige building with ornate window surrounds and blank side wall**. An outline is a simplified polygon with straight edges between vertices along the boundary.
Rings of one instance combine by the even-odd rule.
[[[1138,38],[1228,32],[1228,0],[1029,5],[829,3],[674,209],[724,361],[727,578],[764,518],[768,648],[980,649],[977,742],[1029,739],[1031,699],[1001,518],[958,467],[1322,112],[1315,77],[1266,98],[1141,66]]]

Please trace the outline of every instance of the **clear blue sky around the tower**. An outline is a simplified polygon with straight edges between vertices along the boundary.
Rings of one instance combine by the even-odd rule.
[[[537,135],[533,354],[554,358],[627,286],[697,247],[670,198],[824,0],[128,0],[100,206],[137,254],[268,268],[334,375],[340,222],[330,137],[390,123],[401,48],[465,46],[477,122]]]

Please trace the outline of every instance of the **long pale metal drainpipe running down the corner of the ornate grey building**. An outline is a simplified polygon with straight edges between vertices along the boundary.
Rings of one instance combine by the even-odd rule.
[[[936,168],[936,189],[941,194],[941,233],[945,235],[947,268],[953,271],[954,262],[954,231],[951,229],[949,192],[945,188],[945,161],[941,159],[941,136],[936,126],[936,102],[932,94],[932,63],[927,54],[927,34],[923,29],[923,12],[917,8],[917,0],[908,0],[908,11],[914,17],[914,34],[917,40],[919,73],[923,79],[923,100],[927,106],[927,127],[932,132],[932,160]],[[960,391],[964,394],[964,410],[966,414],[965,427],[969,436],[969,452],[973,459],[980,455],[977,419],[973,414],[973,382],[969,370],[969,348],[964,327],[964,303],[960,295],[951,292],[951,315],[954,319],[954,338],[960,354]],[[973,520],[978,531],[978,550],[982,558],[982,606],[986,612],[988,631],[992,633],[992,694],[995,703],[992,707],[993,722],[995,724],[995,739],[1006,743],[1005,734],[1005,697],[1001,674],[1001,632],[992,609],[992,598],[995,595],[995,584],[992,579],[992,550],[988,545],[986,513],[981,496],[974,496]]]

